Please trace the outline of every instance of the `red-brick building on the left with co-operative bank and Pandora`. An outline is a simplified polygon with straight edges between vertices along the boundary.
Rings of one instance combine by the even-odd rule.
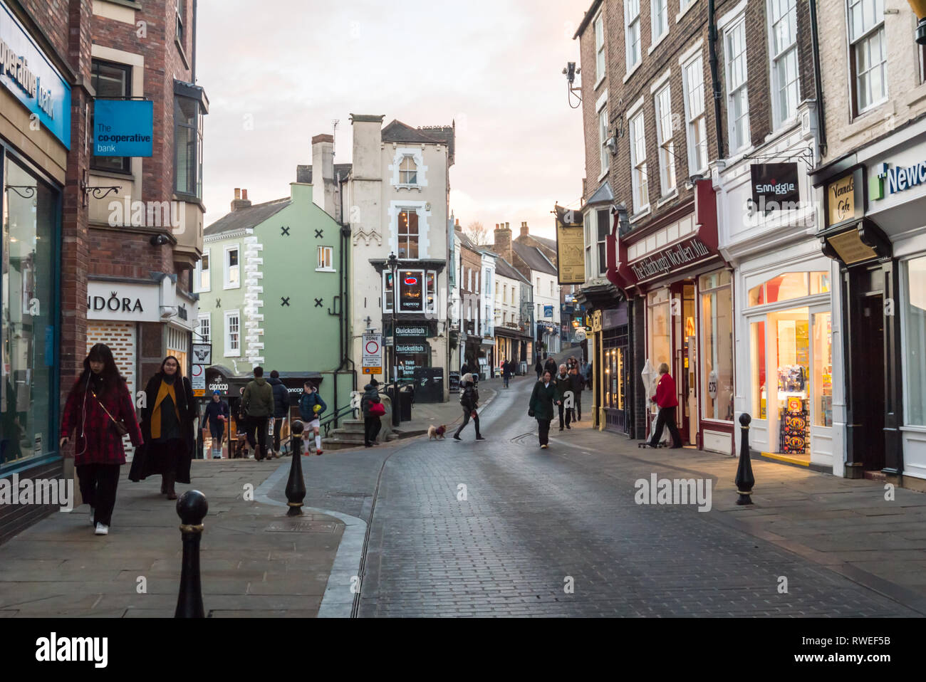
[[[72,476],[60,411],[94,342],[135,391],[169,352],[188,367],[207,112],[194,6],[0,0],[0,477]],[[128,99],[152,103],[152,155],[94,155],[94,101]],[[55,508],[5,505],[0,541]]]

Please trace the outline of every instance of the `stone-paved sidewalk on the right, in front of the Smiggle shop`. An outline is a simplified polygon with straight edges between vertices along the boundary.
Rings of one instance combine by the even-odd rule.
[[[708,520],[765,539],[926,614],[926,494],[883,483],[752,460],[753,505],[737,506],[738,459],[692,448],[638,449],[635,440],[591,428],[551,429],[551,452],[623,483],[709,478]]]

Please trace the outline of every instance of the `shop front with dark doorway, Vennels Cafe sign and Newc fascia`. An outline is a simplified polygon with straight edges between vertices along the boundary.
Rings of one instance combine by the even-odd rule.
[[[815,173],[845,305],[845,477],[926,490],[926,123]]]

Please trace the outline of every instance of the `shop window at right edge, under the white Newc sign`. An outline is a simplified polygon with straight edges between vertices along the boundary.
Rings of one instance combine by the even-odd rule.
[[[926,256],[902,264],[907,424],[926,427]]]

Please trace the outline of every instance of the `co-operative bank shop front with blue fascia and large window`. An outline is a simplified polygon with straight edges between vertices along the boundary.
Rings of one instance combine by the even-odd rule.
[[[0,477],[56,478],[63,472],[56,366],[70,85],[67,66],[47,56],[3,2],[0,44]],[[64,379],[65,391],[73,379]],[[0,506],[0,541],[36,510]]]

